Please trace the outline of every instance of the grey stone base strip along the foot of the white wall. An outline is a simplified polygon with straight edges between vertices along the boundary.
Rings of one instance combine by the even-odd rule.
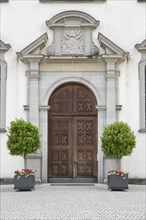
[[[41,184],[39,180],[36,179],[36,183]],[[129,184],[136,184],[136,185],[146,185],[146,179],[128,179]],[[14,178],[0,178],[0,185],[7,185],[7,184],[14,184]]]

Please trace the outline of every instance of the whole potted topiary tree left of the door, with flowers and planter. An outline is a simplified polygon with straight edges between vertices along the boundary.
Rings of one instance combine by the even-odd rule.
[[[22,156],[36,152],[40,148],[40,134],[38,128],[31,122],[16,119],[8,128],[7,148],[11,155]],[[25,165],[26,166],[26,165]],[[34,189],[35,171],[28,169],[16,170],[14,176],[14,189]]]

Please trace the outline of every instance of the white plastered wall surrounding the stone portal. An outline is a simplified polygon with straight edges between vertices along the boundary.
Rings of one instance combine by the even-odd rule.
[[[94,30],[94,42],[98,45],[98,32],[103,33],[125,51],[130,52],[128,61],[119,66],[119,103],[122,110],[119,120],[130,124],[137,137],[137,145],[130,157],[122,159],[122,168],[130,177],[145,177],[146,133],[139,133],[139,79],[138,62],[140,53],[134,48],[136,43],[145,39],[145,5],[135,1],[111,1],[104,3],[42,4],[39,1],[9,1],[1,4],[1,39],[11,44],[5,54],[7,71],[7,111],[6,124],[22,117],[26,119],[23,105],[27,104],[27,66],[18,62],[16,52],[48,33],[51,43],[52,31],[48,30],[46,20],[66,10],[80,10],[100,20]],[[15,169],[23,168],[23,159],[12,157],[6,149],[6,133],[0,133],[1,177],[13,177]]]

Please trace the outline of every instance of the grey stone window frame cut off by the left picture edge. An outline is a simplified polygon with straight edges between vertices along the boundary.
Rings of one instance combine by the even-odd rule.
[[[4,54],[10,47],[10,44],[5,44],[0,40],[0,132],[6,131],[7,62]]]

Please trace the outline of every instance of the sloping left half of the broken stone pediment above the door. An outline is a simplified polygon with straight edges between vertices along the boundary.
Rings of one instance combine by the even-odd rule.
[[[19,57],[27,56],[27,55],[39,55],[41,54],[41,50],[45,47],[48,40],[47,33],[43,34],[23,50],[17,53]]]

